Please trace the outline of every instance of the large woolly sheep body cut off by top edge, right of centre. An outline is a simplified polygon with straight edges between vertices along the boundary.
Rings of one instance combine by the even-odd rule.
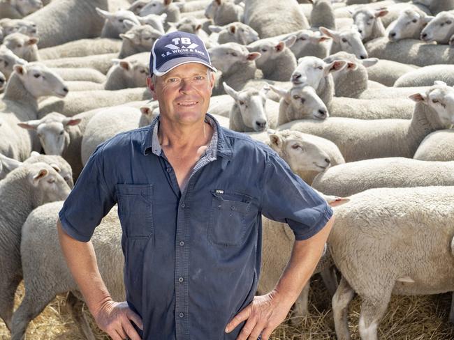
[[[305,15],[293,0],[245,0],[244,5],[244,24],[255,29],[261,38],[309,29]]]

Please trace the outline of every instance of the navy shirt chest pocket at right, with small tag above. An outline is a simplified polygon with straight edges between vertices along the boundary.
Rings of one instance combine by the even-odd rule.
[[[212,191],[208,238],[216,245],[239,246],[251,230],[256,208],[244,194]]]

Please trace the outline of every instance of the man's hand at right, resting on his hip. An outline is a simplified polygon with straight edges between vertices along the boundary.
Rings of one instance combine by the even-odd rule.
[[[272,331],[284,321],[291,306],[292,303],[279,299],[277,291],[256,296],[228,323],[226,332],[230,333],[247,320],[237,340],[256,340],[260,335],[262,340],[268,340]]]

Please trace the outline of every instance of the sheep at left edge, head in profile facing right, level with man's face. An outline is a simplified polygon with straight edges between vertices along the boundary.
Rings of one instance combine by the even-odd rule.
[[[56,95],[64,98],[68,88],[63,80],[40,63],[14,65],[3,95],[0,126],[0,153],[15,160],[25,160],[31,150],[39,150],[34,133],[28,133],[17,126],[21,121],[36,119],[38,98]]]

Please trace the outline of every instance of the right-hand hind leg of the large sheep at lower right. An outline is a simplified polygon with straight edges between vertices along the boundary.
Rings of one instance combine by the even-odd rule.
[[[360,323],[358,330],[362,340],[378,340],[376,328],[386,312],[391,294],[384,293],[380,297],[363,297],[361,304]]]

